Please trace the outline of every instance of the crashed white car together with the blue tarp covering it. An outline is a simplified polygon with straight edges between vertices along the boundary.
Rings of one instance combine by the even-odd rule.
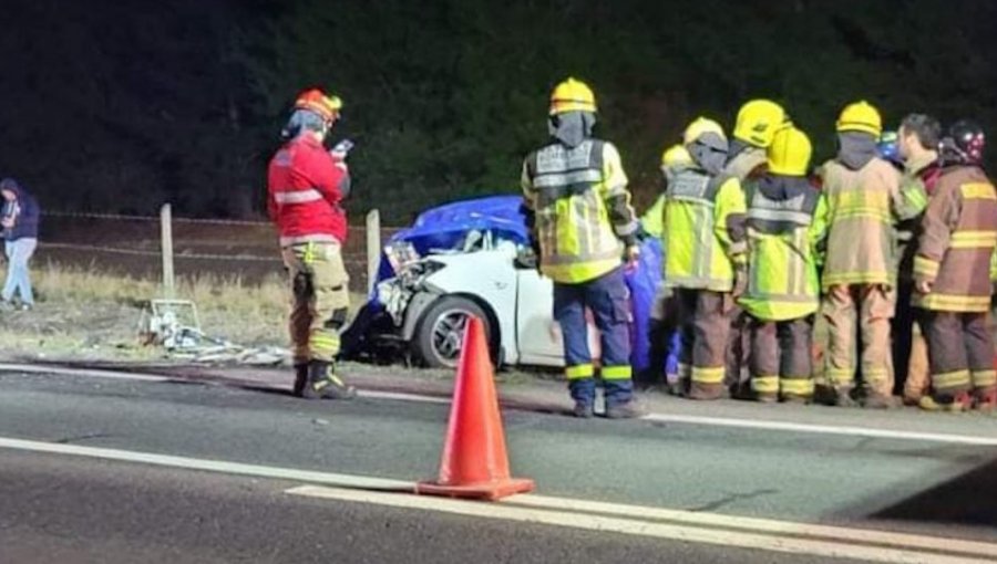
[[[386,244],[374,290],[343,335],[343,356],[455,366],[469,316],[483,320],[496,365],[564,366],[553,282],[539,274],[522,199],[497,196],[421,213]],[[660,246],[643,243],[627,272],[633,362],[647,365],[647,323],[660,280]],[[598,333],[589,323],[593,354]]]

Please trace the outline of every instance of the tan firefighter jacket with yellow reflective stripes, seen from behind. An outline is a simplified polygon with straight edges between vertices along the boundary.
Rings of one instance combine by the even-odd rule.
[[[901,175],[881,158],[859,170],[837,160],[823,166],[828,199],[828,255],[822,286],[893,285],[896,279],[894,223],[917,216],[900,187]]]

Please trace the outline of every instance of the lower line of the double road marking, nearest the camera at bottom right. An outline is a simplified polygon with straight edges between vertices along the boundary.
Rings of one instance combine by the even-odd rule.
[[[516,497],[512,502],[482,503],[432,498],[422,495],[399,495],[383,492],[346,490],[338,488],[302,485],[288,490],[294,495],[330,499],[346,502],[370,503],[400,509],[436,511],[459,515],[498,519],[520,523],[536,523],[555,526],[584,529],[599,533],[620,533],[636,536],[668,539],[680,542],[753,549],[770,552],[805,554],[835,558],[853,558],[867,562],[886,563],[922,563],[922,564],[993,564],[997,546],[986,546],[987,557],[975,557],[974,554],[957,554],[950,551],[947,539],[937,539],[934,552],[923,552],[909,547],[891,547],[856,544],[854,541],[826,541],[803,539],[800,536],[771,535],[729,530],[707,529],[681,524],[648,521],[646,519],[621,519],[598,514],[585,514],[569,511],[533,509],[516,506]]]

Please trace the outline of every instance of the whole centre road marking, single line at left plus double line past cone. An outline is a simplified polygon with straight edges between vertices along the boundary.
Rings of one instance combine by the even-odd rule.
[[[0,448],[320,483],[325,485],[297,487],[287,492],[347,502],[376,503],[402,509],[440,511],[721,546],[886,563],[981,564],[993,563],[997,558],[997,545],[954,539],[541,495],[518,495],[498,503],[466,502],[412,495],[413,482],[402,480],[3,437],[0,437]]]

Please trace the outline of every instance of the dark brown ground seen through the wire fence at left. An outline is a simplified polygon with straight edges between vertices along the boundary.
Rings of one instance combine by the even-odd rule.
[[[381,239],[399,228],[382,228]],[[282,275],[274,226],[265,221],[173,218],[173,257],[181,276],[218,275],[257,282]],[[354,291],[367,288],[367,229],[351,227],[343,262]],[[52,211],[42,215],[35,260],[101,272],[158,279],[160,218]]]

